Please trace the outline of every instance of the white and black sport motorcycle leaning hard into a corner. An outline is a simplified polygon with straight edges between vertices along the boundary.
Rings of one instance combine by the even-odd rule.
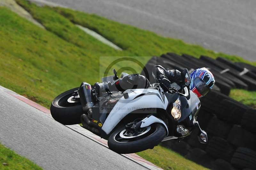
[[[105,82],[118,79],[113,71],[115,75],[105,77]],[[124,76],[128,74],[122,73]],[[207,133],[196,121],[201,103],[189,90],[191,78],[187,69],[181,72],[181,79],[171,88],[159,80],[147,89],[105,92],[100,96],[92,85],[83,82],[57,96],[52,101],[51,114],[65,125],[82,123],[85,129],[108,140],[109,149],[117,153],[153,149],[170,139],[180,141],[195,127],[199,128],[199,142],[206,144]]]

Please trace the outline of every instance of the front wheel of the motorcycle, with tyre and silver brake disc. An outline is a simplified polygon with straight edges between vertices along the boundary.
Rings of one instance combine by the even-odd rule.
[[[166,136],[166,129],[160,123],[153,123],[134,132],[121,127],[108,138],[108,147],[117,153],[135,153],[153,149]]]

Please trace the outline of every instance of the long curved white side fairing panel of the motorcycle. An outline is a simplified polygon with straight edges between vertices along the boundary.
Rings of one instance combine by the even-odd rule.
[[[137,110],[138,108],[166,109],[168,105],[168,100],[166,97],[159,93],[159,91],[156,89],[129,89],[125,92],[128,92],[129,97],[124,99],[123,96],[116,103],[115,107],[113,107],[102,126],[102,130],[105,131],[106,134],[109,134],[126,115],[134,110]],[[137,97],[141,94],[147,95]]]

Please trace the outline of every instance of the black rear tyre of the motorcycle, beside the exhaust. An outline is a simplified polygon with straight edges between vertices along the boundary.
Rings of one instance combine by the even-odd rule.
[[[81,123],[80,117],[83,114],[83,108],[80,102],[75,104],[64,104],[64,100],[67,100],[78,89],[78,87],[61,93],[57,96],[51,105],[51,114],[54,120],[64,124],[79,124]],[[63,100],[63,101],[62,101]],[[62,103],[62,104],[60,104]]]

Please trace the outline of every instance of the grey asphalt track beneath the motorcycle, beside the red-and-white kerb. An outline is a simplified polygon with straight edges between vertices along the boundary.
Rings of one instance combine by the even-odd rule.
[[[147,169],[11,96],[0,86],[0,143],[44,169]]]

